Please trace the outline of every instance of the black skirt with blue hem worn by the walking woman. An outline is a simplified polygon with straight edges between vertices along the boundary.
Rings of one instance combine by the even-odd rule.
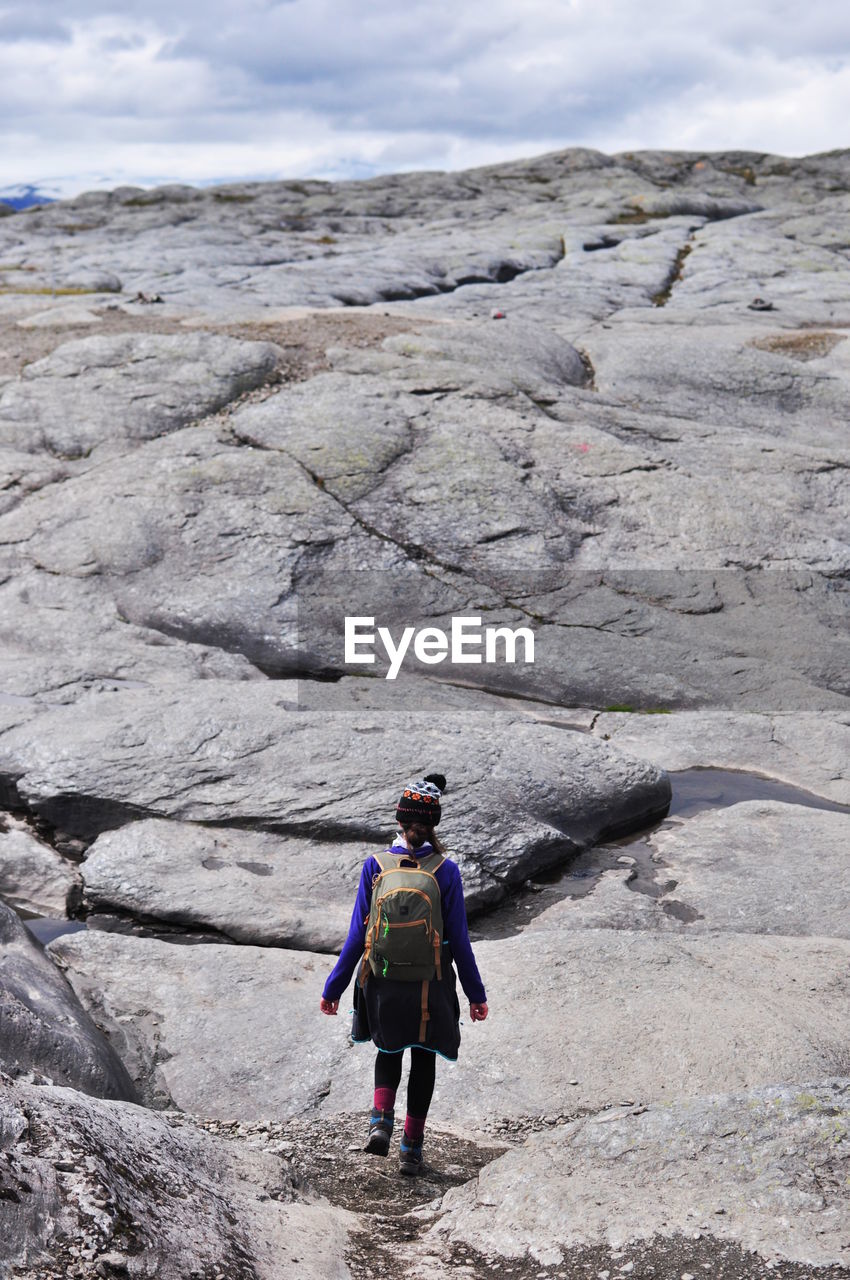
[[[448,950],[448,948],[445,948]],[[367,970],[366,986],[355,982],[355,1018],[351,1038],[373,1041],[385,1053],[405,1048],[428,1048],[433,1053],[457,1061],[461,1046],[461,1006],[457,1000],[457,978],[451,959],[443,955],[442,977],[428,987],[428,1021],[422,1029],[422,984],[399,982],[398,978],[376,978]]]

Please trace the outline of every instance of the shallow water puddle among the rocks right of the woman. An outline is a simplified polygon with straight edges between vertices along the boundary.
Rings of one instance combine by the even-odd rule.
[[[594,845],[573,858],[567,867],[543,872],[527,881],[507,902],[486,916],[479,916],[470,927],[472,941],[509,938],[554,902],[565,897],[586,897],[599,883],[604,872],[629,870],[626,887],[635,893],[659,899],[676,888],[676,881],[666,874],[667,864],[652,847],[657,831],[681,827],[689,818],[709,809],[726,809],[745,800],[776,800],[799,804],[809,809],[827,809],[850,813],[850,805],[824,800],[803,787],[780,782],[777,778],[736,769],[694,768],[671,773],[672,800],[667,817],[643,831],[620,840]],[[662,910],[689,924],[699,919],[691,906],[668,900]]]

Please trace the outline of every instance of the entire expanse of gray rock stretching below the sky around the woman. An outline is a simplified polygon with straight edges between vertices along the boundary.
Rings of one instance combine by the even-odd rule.
[[[3,219],[10,1276],[850,1265],[849,229],[849,152]],[[316,1005],[425,765],[493,1012],[417,1192]]]

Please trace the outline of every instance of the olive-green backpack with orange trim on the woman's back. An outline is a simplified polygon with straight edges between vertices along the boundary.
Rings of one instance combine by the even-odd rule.
[[[389,850],[376,858],[380,873],[373,879],[366,919],[360,986],[366,986],[370,972],[380,978],[421,982],[420,1039],[425,1039],[429,1020],[429,983],[442,977],[443,906],[434,873],[444,860],[438,852],[417,861]]]

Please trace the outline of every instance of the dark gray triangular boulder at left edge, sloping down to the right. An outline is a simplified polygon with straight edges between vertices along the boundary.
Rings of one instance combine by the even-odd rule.
[[[0,901],[0,1070],[134,1101],[124,1066],[14,911]]]

